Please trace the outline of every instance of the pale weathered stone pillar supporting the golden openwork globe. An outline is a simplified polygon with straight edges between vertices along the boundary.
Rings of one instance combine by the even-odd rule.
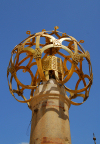
[[[47,94],[60,94],[64,97],[66,92],[55,79],[39,85],[34,96]],[[55,97],[55,96],[54,96]],[[32,108],[32,124],[30,144],[71,144],[69,107],[59,99],[47,99],[39,102],[34,108],[34,98],[30,102]]]

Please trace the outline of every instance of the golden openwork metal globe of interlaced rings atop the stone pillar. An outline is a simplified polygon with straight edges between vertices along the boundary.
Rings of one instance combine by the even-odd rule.
[[[90,54],[81,46],[80,43],[83,43],[83,40],[78,42],[74,37],[57,31],[58,28],[59,27],[56,26],[51,32],[43,29],[42,32],[35,34],[31,34],[30,31],[27,31],[26,33],[29,34],[29,37],[15,46],[12,50],[7,69],[7,78],[11,94],[14,96],[14,93],[17,93],[24,99],[21,101],[14,96],[17,101],[23,103],[27,102],[27,104],[29,104],[28,102],[30,102],[34,95],[34,89],[37,88],[41,81],[48,81],[50,74],[54,76],[60,85],[65,87],[67,92],[70,93],[69,101],[71,104],[80,105],[88,98],[93,81]],[[44,38],[45,41],[41,41],[42,38]],[[65,52],[63,53],[60,50],[65,50]],[[22,53],[26,53],[26,57],[20,60]],[[27,59],[29,59],[28,64],[23,65]],[[83,61],[88,63],[89,74],[83,73]],[[71,64],[70,69],[67,67],[68,62]],[[35,65],[37,65],[37,71],[34,75],[31,68]],[[23,69],[24,73],[28,72],[30,74],[30,85],[25,85],[18,79],[17,71],[20,69]],[[79,78],[76,82],[75,89],[70,89],[64,84],[70,80],[73,73],[76,73]],[[10,77],[9,74],[11,75]],[[16,89],[12,88],[13,78],[17,83]],[[88,83],[85,79],[88,79]],[[78,89],[81,81],[83,82],[84,87]],[[25,89],[31,90],[30,98],[28,100],[23,95]],[[83,97],[82,103],[75,103],[72,101],[72,99],[79,96]]]

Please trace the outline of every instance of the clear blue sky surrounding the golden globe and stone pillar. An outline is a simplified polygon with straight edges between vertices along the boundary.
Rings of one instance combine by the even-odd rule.
[[[31,111],[9,92],[6,71],[15,45],[42,29],[59,31],[85,41],[90,52],[93,85],[90,97],[69,110],[72,144],[100,143],[100,0],[0,0],[0,144],[28,144]],[[28,136],[27,134],[28,133]]]

